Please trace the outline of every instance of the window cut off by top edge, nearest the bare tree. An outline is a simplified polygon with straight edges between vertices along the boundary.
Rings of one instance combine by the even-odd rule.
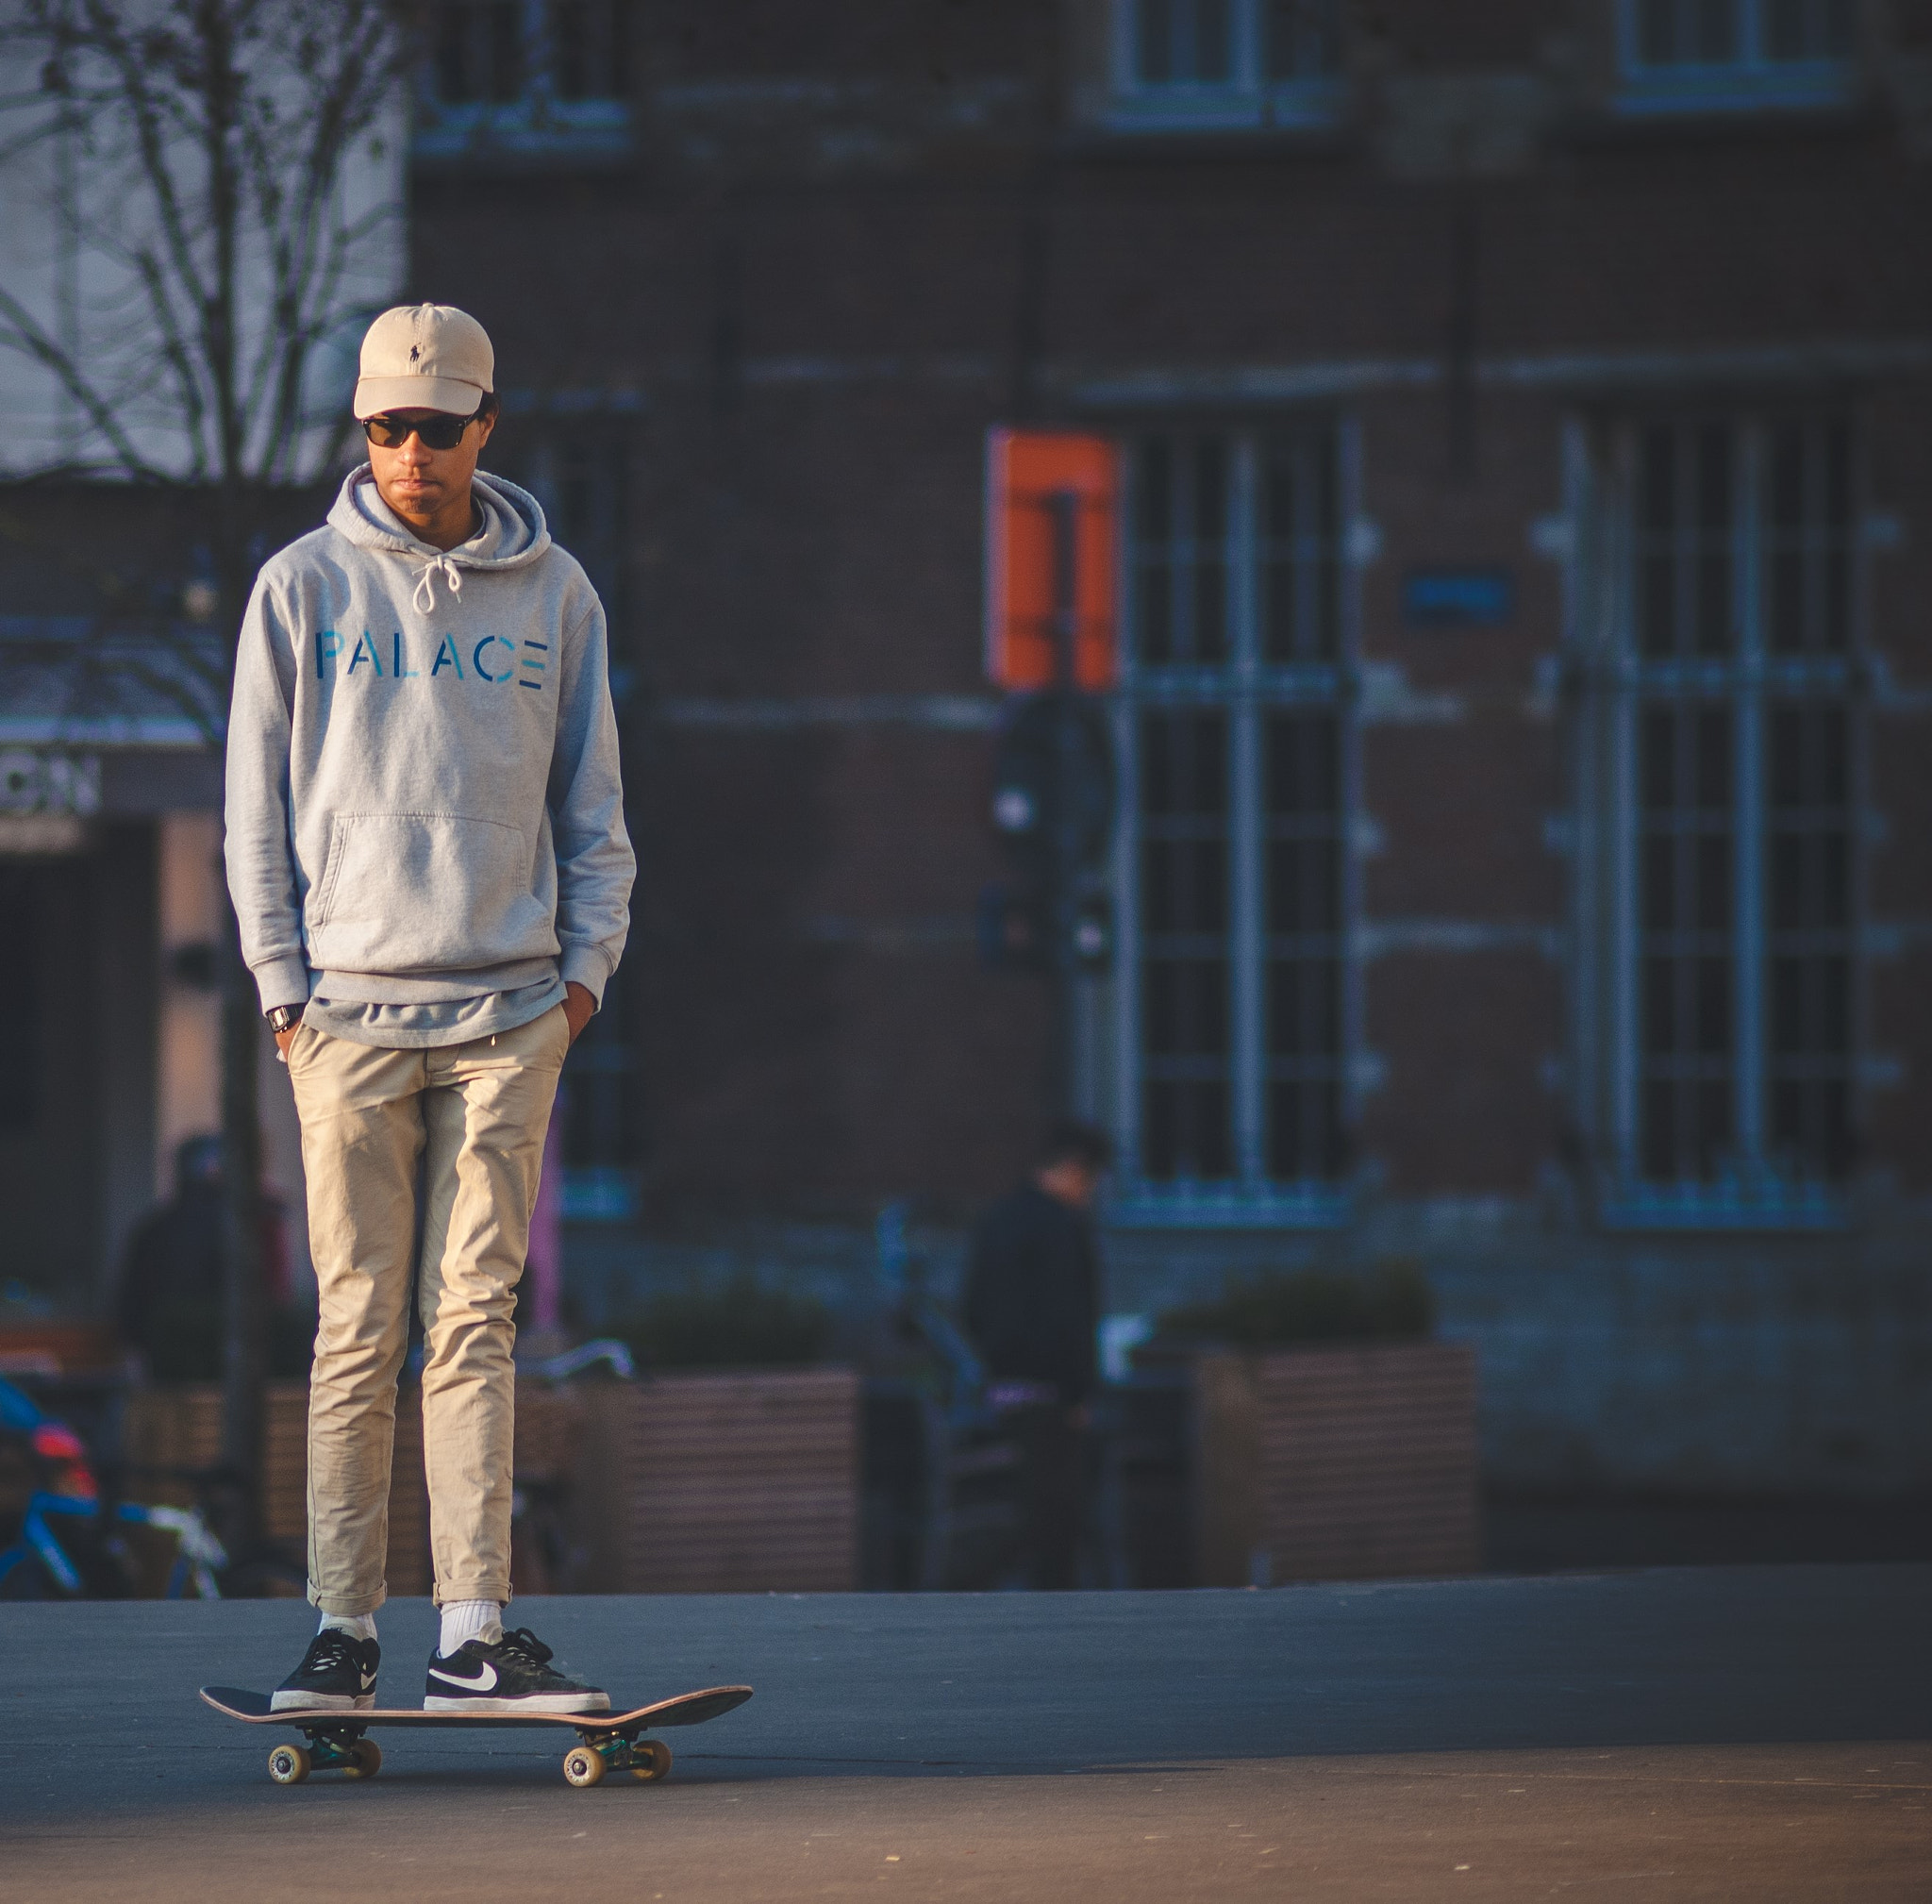
[[[439,0],[415,149],[628,151],[630,0]]]

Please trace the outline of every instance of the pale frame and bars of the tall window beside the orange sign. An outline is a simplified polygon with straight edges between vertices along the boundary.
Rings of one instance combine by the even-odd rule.
[[[1314,419],[1306,419],[1314,421]],[[1360,744],[1356,653],[1360,630],[1358,543],[1352,534],[1360,493],[1360,439],[1349,419],[1323,419],[1335,431],[1337,454],[1337,651],[1331,661],[1267,661],[1262,653],[1258,586],[1260,448],[1279,425],[1179,425],[1177,437],[1219,435],[1233,447],[1227,512],[1225,574],[1231,649],[1225,663],[1144,665],[1134,630],[1134,458],[1121,537],[1122,669],[1115,696],[1115,742],[1121,764],[1121,823],[1113,845],[1117,963],[1111,986],[1111,1123],[1119,1144],[1117,1195],[1109,1222],[1124,1229],[1335,1229],[1352,1212],[1350,1177],[1283,1183],[1265,1169],[1265,796],[1262,723],[1277,709],[1333,713],[1339,742],[1339,1119],[1345,1146],[1358,1123],[1358,1057],[1362,1050],[1360,880],[1354,852],[1354,814],[1360,808]],[[1169,435],[1150,427],[1140,435]],[[1132,441],[1132,439],[1130,439]],[[1229,941],[1231,941],[1231,1146],[1235,1175],[1223,1181],[1155,1181],[1142,1173],[1142,999],[1140,999],[1140,802],[1138,717],[1148,707],[1219,707],[1229,715]]]

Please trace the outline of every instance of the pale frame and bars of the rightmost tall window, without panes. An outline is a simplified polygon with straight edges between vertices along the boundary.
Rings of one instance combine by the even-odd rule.
[[[1849,1222],[1849,1187],[1793,1181],[1770,1156],[1766,1075],[1770,1028],[1766,984],[1772,936],[1766,841],[1772,831],[1768,711],[1774,702],[1835,700],[1849,717],[1851,851],[1851,1048],[1847,1088],[1857,1125],[1862,1048],[1862,852],[1864,736],[1857,698],[1864,626],[1859,433],[1853,418],[1847,522],[1849,630],[1839,653],[1787,655],[1766,646],[1764,601],[1766,445],[1776,421],[1803,406],[1733,412],[1733,588],[1737,648],[1710,657],[1646,657],[1636,646],[1634,456],[1644,416],[1573,421],[1567,439],[1567,503],[1575,537],[1567,574],[1567,642],[1582,684],[1573,729],[1573,910],[1571,910],[1571,1096],[1592,1160],[1592,1200],[1607,1229],[1725,1231],[1839,1229]],[[1839,410],[1843,414],[1843,410]],[[1706,419],[1719,419],[1716,414]],[[1646,1181],[1640,1160],[1642,1026],[1638,974],[1638,723],[1646,704],[1690,696],[1721,700],[1733,715],[1733,1164],[1714,1183]]]

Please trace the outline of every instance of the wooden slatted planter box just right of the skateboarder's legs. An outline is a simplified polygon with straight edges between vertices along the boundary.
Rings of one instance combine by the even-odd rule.
[[[659,1374],[587,1386],[583,1407],[587,1591],[856,1591],[854,1370]]]

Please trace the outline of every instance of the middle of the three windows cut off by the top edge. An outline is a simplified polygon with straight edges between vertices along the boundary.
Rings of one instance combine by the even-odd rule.
[[[1339,0],[1117,0],[1122,126],[1321,124],[1339,106]]]

